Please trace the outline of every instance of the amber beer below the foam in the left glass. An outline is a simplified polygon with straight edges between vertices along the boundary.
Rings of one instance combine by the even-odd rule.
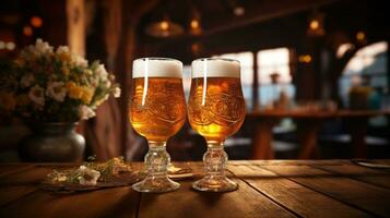
[[[166,142],[186,121],[186,102],[181,78],[133,78],[130,122],[149,141]],[[144,102],[143,102],[144,101]]]

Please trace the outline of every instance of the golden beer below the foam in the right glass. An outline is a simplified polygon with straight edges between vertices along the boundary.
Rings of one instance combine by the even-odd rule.
[[[192,78],[190,96],[189,121],[206,141],[223,142],[241,126],[245,100],[239,78]]]

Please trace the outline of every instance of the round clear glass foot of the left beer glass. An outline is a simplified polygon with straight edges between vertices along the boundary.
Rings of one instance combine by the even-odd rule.
[[[168,177],[146,177],[144,180],[133,184],[131,187],[138,192],[163,193],[178,190],[180,184],[172,181]]]

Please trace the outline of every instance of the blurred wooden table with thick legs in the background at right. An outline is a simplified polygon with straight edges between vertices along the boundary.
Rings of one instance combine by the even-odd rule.
[[[256,121],[253,132],[252,159],[273,159],[272,149],[273,133],[275,124],[283,118],[292,118],[297,123],[297,135],[302,145],[298,158],[309,159],[316,152],[318,132],[326,119],[343,119],[351,135],[354,146],[355,158],[367,158],[367,134],[368,119],[376,116],[390,116],[389,110],[338,110],[338,111],[291,111],[270,110],[247,113],[247,119]]]

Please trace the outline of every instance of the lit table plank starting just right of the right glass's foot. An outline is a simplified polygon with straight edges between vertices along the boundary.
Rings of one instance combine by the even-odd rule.
[[[228,169],[259,192],[302,217],[369,216],[257,166],[229,166]],[[307,204],[308,201],[310,204]]]

